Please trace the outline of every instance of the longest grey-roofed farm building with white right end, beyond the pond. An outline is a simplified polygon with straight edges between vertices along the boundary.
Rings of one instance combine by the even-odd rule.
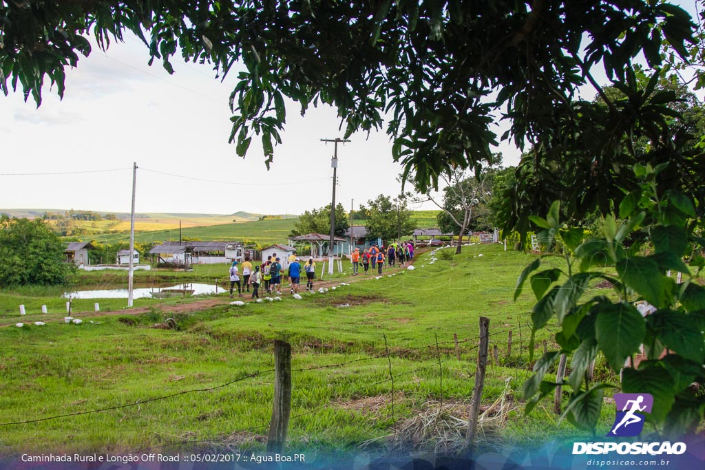
[[[164,242],[149,250],[160,263],[219,264],[243,260],[243,245],[238,242]]]

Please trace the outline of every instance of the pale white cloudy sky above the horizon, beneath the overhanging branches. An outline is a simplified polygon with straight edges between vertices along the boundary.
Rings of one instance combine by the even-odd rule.
[[[137,212],[300,214],[329,204],[333,145],[321,139],[342,137],[336,111],[309,108],[302,117],[288,101],[283,144],[267,171],[258,140],[245,159],[228,144],[237,70],[221,82],[207,65],[174,58],[169,75],[148,61],[147,47],[126,37],[106,52],[94,45],[67,70],[63,100],[49,84],[39,108],[21,92],[0,97],[0,209],[129,212],[133,162]],[[361,132],[351,140],[338,148],[336,200],[357,209],[378,194],[398,194],[402,168],[388,136]],[[497,150],[505,166],[517,163],[513,145]]]

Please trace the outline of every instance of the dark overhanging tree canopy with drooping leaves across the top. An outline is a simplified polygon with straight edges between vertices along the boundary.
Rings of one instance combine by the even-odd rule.
[[[687,56],[693,27],[678,6],[646,0],[9,1],[0,2],[0,87],[19,81],[39,104],[48,77],[63,95],[65,68],[90,54],[84,35],[107,47],[130,30],[169,73],[178,53],[221,76],[244,63],[231,95],[241,156],[259,135],[269,166],[283,97],[302,113],[335,106],[346,137],[383,128],[386,113],[393,159],[424,190],[491,159],[500,114],[510,123],[503,138],[520,147],[570,149],[582,144],[575,129],[598,117],[629,131],[644,103],[596,114],[577,88],[596,86],[596,68],[626,80],[642,53],[651,67],[664,48]],[[601,168],[615,140],[599,142],[591,151]],[[590,192],[603,181],[585,183]]]

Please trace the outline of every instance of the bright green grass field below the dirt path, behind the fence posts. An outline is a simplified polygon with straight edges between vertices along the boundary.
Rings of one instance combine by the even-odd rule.
[[[139,316],[0,328],[0,425],[46,419],[2,426],[0,453],[262,450],[276,339],[293,349],[289,447],[350,450],[364,444],[370,452],[386,452],[397,443],[395,429],[408,428],[441,402],[446,417],[440,419],[462,418],[481,315],[491,321],[490,350],[496,345],[500,356],[500,364],[488,368],[482,402],[504,404],[489,413],[495,419],[484,424],[483,439],[532,443],[546,435],[579,434],[558,424],[551,403],[522,414],[535,300],[527,289],[517,302],[511,299],[517,276],[534,256],[503,252],[500,245],[453,252],[441,250],[431,264],[428,252],[420,254],[414,271],[379,280],[338,275],[360,282],[302,300],[283,296],[281,302],[233,307],[223,298],[223,304],[192,314],[175,313],[168,303],[157,309],[155,302]],[[16,300],[22,297],[18,292]],[[151,328],[167,316],[178,330]],[[551,330],[556,327],[541,330],[537,340],[555,350]],[[460,339],[460,360],[453,333]],[[615,380],[603,359],[596,373]],[[92,410],[103,411],[47,419]],[[603,414],[598,433],[604,435]],[[412,437],[397,434],[419,450],[433,445]]]

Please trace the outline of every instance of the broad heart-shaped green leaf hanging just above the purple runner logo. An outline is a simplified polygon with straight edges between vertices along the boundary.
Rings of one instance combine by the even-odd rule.
[[[595,335],[600,350],[612,369],[619,371],[630,354],[639,350],[644,341],[646,324],[631,304],[599,304],[595,320]]]

